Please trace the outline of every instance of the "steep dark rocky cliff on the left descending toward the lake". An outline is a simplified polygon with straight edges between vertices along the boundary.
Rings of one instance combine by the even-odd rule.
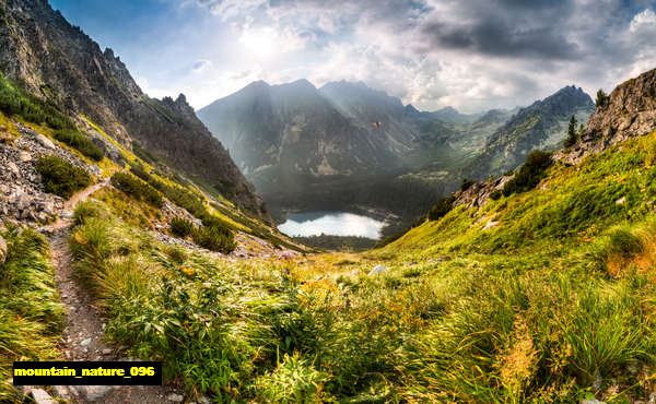
[[[148,97],[112,49],[102,51],[46,0],[0,0],[0,71],[79,123],[93,121],[128,148],[139,142],[180,174],[215,186],[268,219],[254,187],[183,95]]]

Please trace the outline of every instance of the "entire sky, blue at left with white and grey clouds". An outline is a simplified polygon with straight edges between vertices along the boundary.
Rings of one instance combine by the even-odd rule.
[[[150,96],[363,81],[421,110],[594,96],[656,68],[656,0],[50,0]]]

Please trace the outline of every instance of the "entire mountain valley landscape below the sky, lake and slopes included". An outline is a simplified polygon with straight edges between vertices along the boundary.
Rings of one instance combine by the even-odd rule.
[[[656,70],[469,115],[307,80],[196,111],[46,0],[0,32],[0,402],[656,401]],[[12,377],[109,359],[162,385]]]

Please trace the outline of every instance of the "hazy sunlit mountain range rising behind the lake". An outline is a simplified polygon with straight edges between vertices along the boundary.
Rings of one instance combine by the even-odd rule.
[[[532,148],[555,147],[571,115],[585,123],[593,109],[574,86],[526,108],[464,115],[452,107],[420,111],[363,82],[317,88],[300,80],[251,83],[197,115],[274,210],[329,201],[407,216],[427,206],[368,194],[407,190],[411,181],[418,201],[430,203],[464,178],[501,174]]]

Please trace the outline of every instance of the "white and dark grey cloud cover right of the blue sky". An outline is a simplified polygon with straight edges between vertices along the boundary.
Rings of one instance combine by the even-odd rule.
[[[656,67],[656,3],[647,0],[184,4],[229,26],[232,37],[224,40],[238,45],[230,66],[199,55],[199,61],[214,61],[201,73],[204,83],[214,83],[214,98],[251,79],[305,78],[317,85],[343,79],[364,81],[419,108],[450,105],[471,112],[527,105],[569,84],[588,93],[610,91]],[[203,94],[199,99],[210,97],[199,81],[188,86]]]

